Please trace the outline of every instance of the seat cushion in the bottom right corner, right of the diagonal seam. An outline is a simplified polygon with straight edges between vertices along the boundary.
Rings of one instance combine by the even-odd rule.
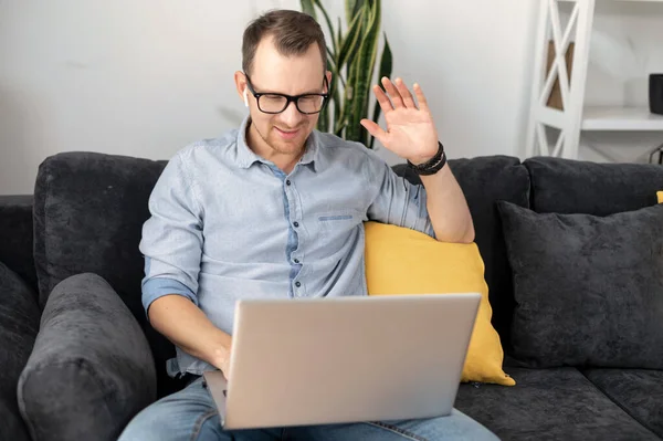
[[[663,438],[663,370],[587,369],[582,374],[631,417]]]

